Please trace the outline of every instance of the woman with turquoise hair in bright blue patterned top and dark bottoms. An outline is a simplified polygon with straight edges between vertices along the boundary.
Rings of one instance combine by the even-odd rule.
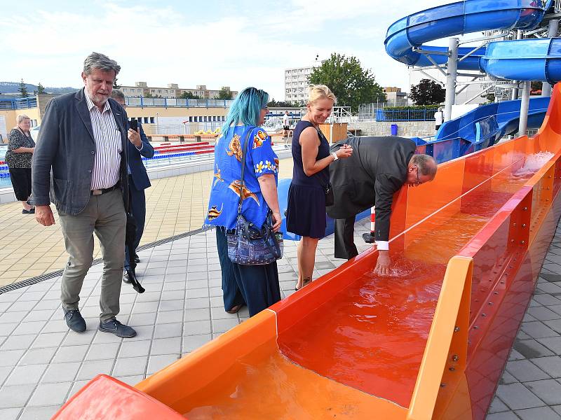
[[[216,241],[224,309],[235,314],[248,305],[250,316],[280,300],[276,262],[267,265],[241,265],[228,257],[227,231],[234,230],[238,202],[243,188],[242,214],[255,226],[262,226],[272,212],[273,230],[280,228],[278,207],[278,157],[271,139],[259,128],[265,120],[269,94],[255,87],[242,90],[230,106],[215,144],[215,176],[212,179],[205,225],[216,226]],[[248,137],[249,136],[249,137]],[[243,187],[241,186],[242,148],[248,138]]]

